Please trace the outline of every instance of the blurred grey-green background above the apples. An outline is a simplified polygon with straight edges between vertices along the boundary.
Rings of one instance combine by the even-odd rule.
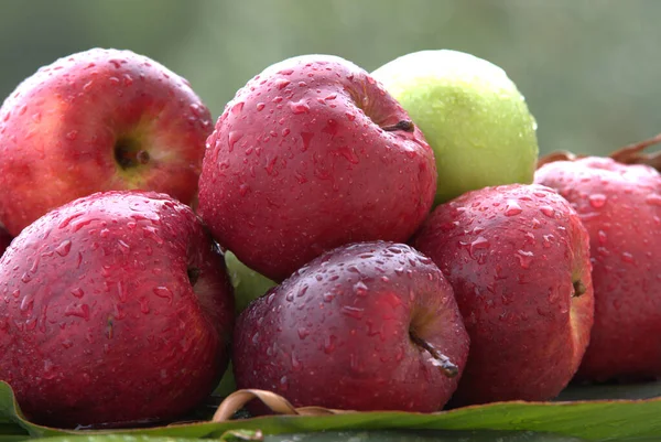
[[[505,68],[539,123],[541,153],[606,154],[661,131],[657,0],[0,0],[0,99],[37,67],[130,48],[188,78],[217,117],[293,55],[372,71],[454,48]]]

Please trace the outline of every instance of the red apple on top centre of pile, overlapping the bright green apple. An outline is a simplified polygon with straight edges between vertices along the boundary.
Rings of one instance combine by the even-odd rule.
[[[227,105],[207,145],[201,216],[275,281],[344,244],[405,241],[434,201],[434,155],[420,130],[336,56],[267,68]]]

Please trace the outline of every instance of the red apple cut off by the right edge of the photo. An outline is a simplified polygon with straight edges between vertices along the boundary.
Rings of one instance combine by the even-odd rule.
[[[577,377],[661,376],[661,175],[647,165],[588,157],[540,168],[590,239],[595,324]]]

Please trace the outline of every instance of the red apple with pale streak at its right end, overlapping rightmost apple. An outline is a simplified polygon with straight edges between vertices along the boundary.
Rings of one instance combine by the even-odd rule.
[[[570,204],[540,185],[473,191],[437,206],[413,244],[449,280],[470,335],[453,405],[560,394],[594,312],[588,237]]]

